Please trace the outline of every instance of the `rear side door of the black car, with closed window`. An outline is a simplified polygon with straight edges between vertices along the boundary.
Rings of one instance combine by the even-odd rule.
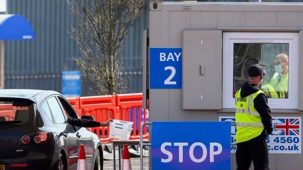
[[[61,145],[64,146],[67,151],[66,155],[69,169],[77,169],[79,146],[75,128],[66,123],[66,116],[56,96],[47,98],[47,103],[52,112],[54,123],[58,129],[57,134],[60,134]]]

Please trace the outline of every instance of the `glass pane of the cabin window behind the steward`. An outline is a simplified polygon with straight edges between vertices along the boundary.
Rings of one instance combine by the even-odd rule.
[[[233,45],[233,97],[248,81],[248,68],[264,64],[267,72],[261,89],[268,98],[288,98],[289,44],[234,43]]]

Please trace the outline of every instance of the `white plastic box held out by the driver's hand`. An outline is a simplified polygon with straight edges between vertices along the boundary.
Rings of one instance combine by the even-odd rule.
[[[132,127],[133,122],[114,119],[110,124],[109,137],[127,141],[129,140],[130,133],[132,133]]]

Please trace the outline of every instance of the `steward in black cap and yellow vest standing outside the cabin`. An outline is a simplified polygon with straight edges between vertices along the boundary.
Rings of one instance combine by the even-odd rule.
[[[248,69],[249,81],[235,95],[237,170],[248,170],[251,161],[255,170],[269,170],[266,140],[273,132],[273,124],[266,94],[259,87],[264,74],[259,64],[252,65]]]

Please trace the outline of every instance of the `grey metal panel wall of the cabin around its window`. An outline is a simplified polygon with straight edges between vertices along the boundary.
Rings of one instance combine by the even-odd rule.
[[[160,2],[159,2],[160,3]],[[188,2],[190,3],[190,2]],[[178,7],[179,5],[179,7]],[[236,7],[231,7],[227,5],[220,5],[216,10],[212,7],[211,10],[205,11],[200,10],[201,8],[196,8],[197,11],[180,11],[182,9],[182,3],[179,4],[165,4],[162,3],[158,7],[162,7],[162,11],[150,11],[150,47],[162,47],[162,48],[175,48],[182,47],[182,30],[183,29],[216,29],[217,27],[226,27],[226,28],[240,28],[245,30],[246,24],[250,27],[254,27],[251,23],[253,20],[256,22],[256,27],[265,28],[269,30],[275,28],[289,28],[292,29],[301,29],[303,27],[302,17],[303,11],[301,6],[294,5],[289,7],[286,11],[281,11],[285,7],[277,7],[274,5],[267,5],[262,8],[253,7],[254,12],[265,14],[271,21],[276,21],[275,23],[268,23],[267,18],[260,18],[260,20],[255,20],[254,16],[247,15],[252,11],[252,7],[246,7],[245,5],[238,5],[238,9],[242,10],[233,11]],[[170,8],[168,8],[170,6]],[[181,6],[181,7],[180,7]],[[192,5],[194,9],[195,5]],[[197,5],[198,6],[198,5]],[[296,8],[296,9],[293,9]],[[170,9],[170,10],[163,10]],[[207,8],[203,8],[207,9]],[[226,9],[228,9],[226,11]],[[244,10],[246,9],[246,10]],[[260,11],[258,11],[260,10]],[[268,11],[274,11],[277,15],[270,15]],[[285,9],[284,9],[285,10]],[[267,11],[267,12],[265,12]],[[294,12],[296,11],[296,12]],[[265,12],[265,13],[264,13]],[[176,13],[178,13],[178,24],[176,23]],[[189,14],[188,14],[189,13]],[[225,14],[225,15],[224,15]],[[230,16],[242,16],[242,18],[234,17],[233,19]],[[192,18],[193,16],[193,18]],[[229,17],[226,17],[229,16]],[[215,21],[206,20],[205,18],[212,18]],[[189,23],[188,23],[189,20]],[[236,22],[236,23],[234,23]],[[256,28],[254,27],[254,28]],[[258,29],[256,28],[256,29]],[[249,28],[248,28],[249,29]],[[301,35],[302,36],[302,35]],[[302,39],[302,37],[301,37]],[[300,40],[301,40],[300,39]],[[301,42],[300,42],[301,43]],[[302,44],[302,43],[301,43]],[[301,45],[300,45],[301,48]],[[302,52],[302,50],[300,50]],[[186,57],[186,56],[183,56]],[[299,53],[299,57],[302,57],[302,54]],[[300,59],[299,61],[301,61]],[[216,65],[212,66],[216,68]],[[223,70],[224,72],[224,70]],[[299,76],[299,82],[302,82],[303,76]],[[199,86],[200,84],[198,84]],[[211,88],[211,87],[210,87]],[[220,93],[220,92],[219,92]],[[302,90],[299,90],[299,96],[303,96]],[[149,113],[150,121],[217,121],[219,116],[234,116],[234,111],[232,110],[197,110],[197,111],[188,111],[181,108],[182,101],[182,90],[181,89],[150,89],[149,90]],[[299,100],[301,103],[302,100]],[[299,104],[300,105],[300,104]],[[302,103],[301,103],[302,105]],[[301,110],[301,108],[299,108]],[[289,113],[287,113],[289,111]],[[272,116],[298,116],[302,119],[302,114],[297,110],[272,110]],[[301,130],[303,128],[301,127]],[[301,147],[303,145],[301,144]],[[271,169],[302,169],[302,154],[269,154],[269,166]],[[252,169],[252,168],[251,168]]]

